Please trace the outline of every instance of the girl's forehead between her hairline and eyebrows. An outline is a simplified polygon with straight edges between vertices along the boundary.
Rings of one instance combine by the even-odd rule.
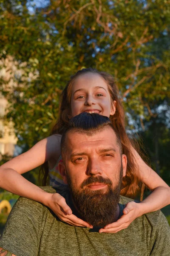
[[[78,76],[73,83],[72,91],[88,87],[104,87],[108,89],[105,79],[97,73],[85,73]]]

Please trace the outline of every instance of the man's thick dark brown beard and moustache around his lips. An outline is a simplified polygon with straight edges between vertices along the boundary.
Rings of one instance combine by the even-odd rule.
[[[120,177],[114,188],[110,179],[102,176],[91,176],[83,181],[81,190],[79,191],[79,189],[75,188],[70,177],[67,175],[72,200],[79,214],[85,221],[94,227],[105,227],[107,224],[115,221],[122,177],[123,167],[121,166]],[[107,184],[107,190],[105,188],[97,190],[88,188],[88,185],[96,182]]]

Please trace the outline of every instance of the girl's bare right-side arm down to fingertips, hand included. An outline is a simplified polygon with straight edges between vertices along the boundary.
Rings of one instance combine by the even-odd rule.
[[[142,160],[136,150],[132,149],[136,163],[139,165],[141,180],[153,192],[140,203],[129,202],[118,221],[107,225],[100,233],[117,233],[127,228],[137,217],[161,209],[170,204],[170,187]]]

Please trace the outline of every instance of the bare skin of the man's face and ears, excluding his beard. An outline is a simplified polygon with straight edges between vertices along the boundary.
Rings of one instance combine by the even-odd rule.
[[[108,127],[93,136],[78,132],[69,132],[65,138],[65,169],[72,180],[73,186],[81,191],[101,190],[108,188],[105,183],[95,182],[82,187],[89,177],[109,179],[113,188],[119,183],[120,169],[123,165],[123,176],[126,173],[126,157],[120,154],[114,131]],[[64,175],[65,183],[68,183]]]

